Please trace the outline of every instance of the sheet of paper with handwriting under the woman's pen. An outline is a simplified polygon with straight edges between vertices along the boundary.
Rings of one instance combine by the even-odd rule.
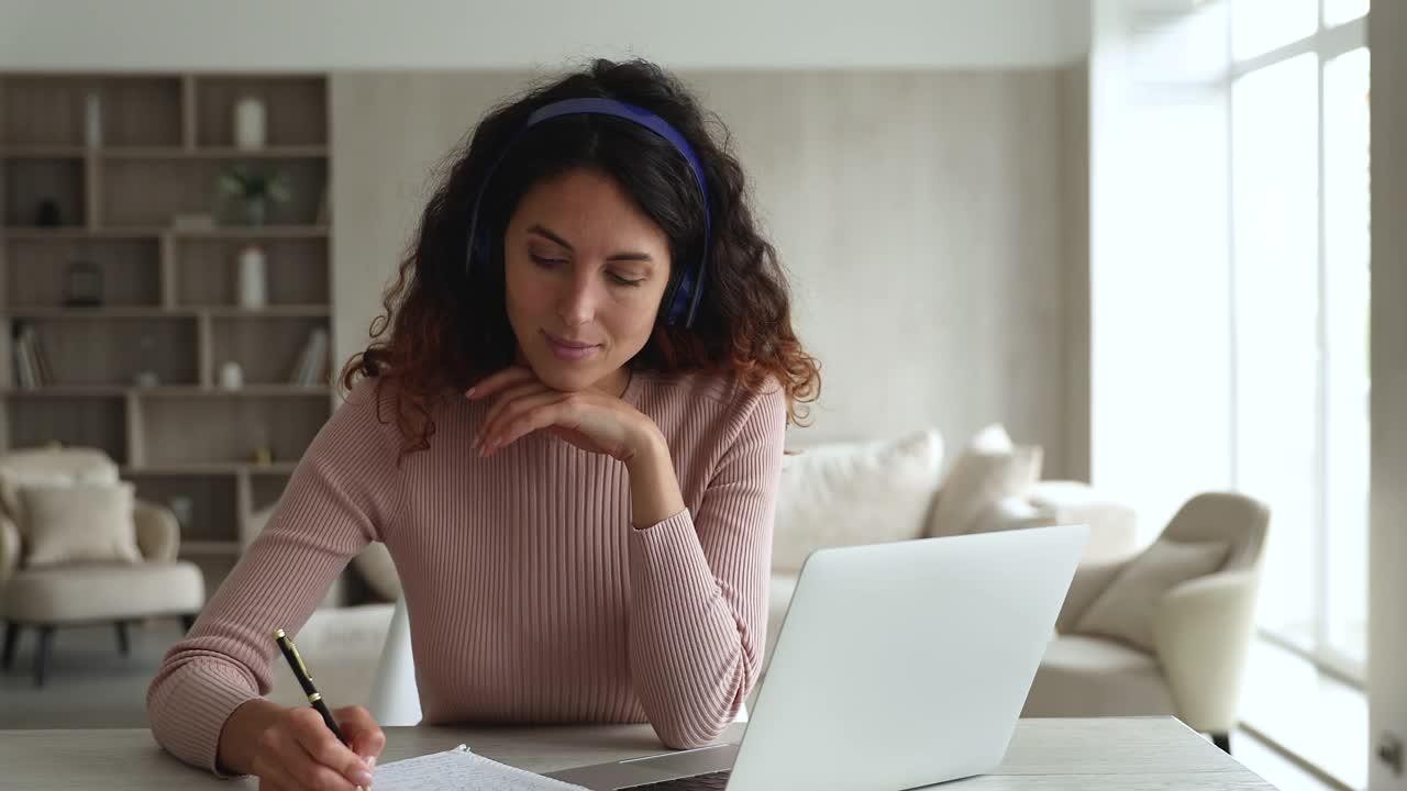
[[[376,767],[376,791],[587,791],[463,747]]]

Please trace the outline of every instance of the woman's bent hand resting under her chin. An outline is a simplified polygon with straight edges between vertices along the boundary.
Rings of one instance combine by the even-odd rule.
[[[474,442],[480,456],[490,456],[535,431],[547,431],[582,450],[629,462],[658,435],[650,418],[620,398],[599,390],[553,390],[528,367],[494,373],[466,396],[471,401],[498,397]]]

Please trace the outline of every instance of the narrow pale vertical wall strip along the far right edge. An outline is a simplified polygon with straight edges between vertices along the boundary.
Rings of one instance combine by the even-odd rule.
[[[1407,3],[1376,0],[1372,56],[1373,352],[1369,735],[1407,739]],[[1369,759],[1372,791],[1407,790]]]

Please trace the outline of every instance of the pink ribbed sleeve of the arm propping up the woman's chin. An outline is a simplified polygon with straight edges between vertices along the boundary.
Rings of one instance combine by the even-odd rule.
[[[739,405],[698,511],[630,531],[630,671],[674,749],[708,745],[734,719],[767,636],[787,407],[779,390]]]

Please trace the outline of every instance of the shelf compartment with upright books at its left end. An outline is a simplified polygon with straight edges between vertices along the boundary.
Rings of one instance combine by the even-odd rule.
[[[160,384],[200,381],[193,318],[79,314],[15,318],[13,324],[34,327],[52,386],[127,386],[144,370],[156,373]]]

